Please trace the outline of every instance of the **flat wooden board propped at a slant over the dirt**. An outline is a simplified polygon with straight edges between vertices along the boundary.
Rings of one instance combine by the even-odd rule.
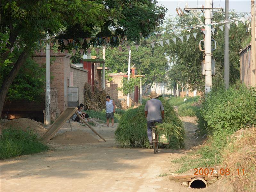
[[[77,107],[67,107],[62,114],[54,121],[54,123],[47,129],[42,139],[50,140],[54,134],[62,127],[64,123],[78,110]]]

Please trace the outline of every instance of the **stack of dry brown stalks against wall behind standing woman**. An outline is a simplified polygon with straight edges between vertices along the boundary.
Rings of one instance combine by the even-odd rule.
[[[106,91],[99,90],[94,86],[94,92],[92,86],[88,83],[84,87],[84,105],[86,109],[101,111],[106,107]]]

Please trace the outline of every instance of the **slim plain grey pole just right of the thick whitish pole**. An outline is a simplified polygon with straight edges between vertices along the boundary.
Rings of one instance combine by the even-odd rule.
[[[225,1],[225,20],[228,20],[228,0]],[[229,87],[229,31],[225,23],[225,36],[224,36],[224,81],[226,89]]]

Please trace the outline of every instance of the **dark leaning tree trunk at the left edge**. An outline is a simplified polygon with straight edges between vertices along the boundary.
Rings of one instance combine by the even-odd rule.
[[[16,61],[15,65],[13,66],[11,72],[8,74],[8,76],[4,79],[4,82],[0,88],[0,118],[2,116],[3,108],[4,108],[4,101],[5,97],[8,93],[8,90],[14,80],[14,78],[17,76],[21,66],[25,63],[27,57],[28,57],[27,50],[24,50],[21,55],[19,56],[18,60]]]

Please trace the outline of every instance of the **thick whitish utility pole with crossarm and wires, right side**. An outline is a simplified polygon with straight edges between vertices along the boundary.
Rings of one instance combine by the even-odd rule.
[[[212,86],[212,72],[211,72],[211,5],[212,0],[205,0],[205,92],[209,93]]]

